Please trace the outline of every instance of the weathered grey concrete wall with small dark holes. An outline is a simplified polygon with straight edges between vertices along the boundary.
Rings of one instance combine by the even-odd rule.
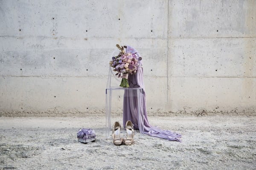
[[[143,56],[149,114],[252,115],[255,9],[255,0],[0,0],[0,115],[103,115],[116,43]]]

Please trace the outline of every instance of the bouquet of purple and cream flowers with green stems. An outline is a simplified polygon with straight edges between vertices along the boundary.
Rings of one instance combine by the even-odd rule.
[[[116,47],[120,50],[118,56],[112,57],[109,62],[110,66],[113,67],[113,71],[117,71],[116,76],[121,77],[122,81],[120,86],[128,88],[128,74],[135,74],[139,67],[139,56],[136,53],[126,53],[124,48],[126,46],[120,46],[116,44]]]

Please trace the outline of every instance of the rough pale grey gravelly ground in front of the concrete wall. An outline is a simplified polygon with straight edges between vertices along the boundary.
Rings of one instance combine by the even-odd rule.
[[[133,145],[115,146],[105,139],[102,116],[0,117],[0,169],[256,169],[255,116],[150,116],[149,122],[181,133],[183,141],[136,132]],[[79,143],[80,127],[93,128],[96,142]]]

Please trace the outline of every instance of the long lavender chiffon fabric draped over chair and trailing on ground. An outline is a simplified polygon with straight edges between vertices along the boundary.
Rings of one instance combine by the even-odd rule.
[[[136,53],[137,51],[131,46],[127,46],[126,52]],[[137,52],[138,56],[140,54]],[[142,65],[142,62],[140,65]],[[178,141],[181,142],[181,135],[178,133],[174,133],[170,130],[162,130],[158,127],[153,127],[148,122],[147,110],[146,110],[146,99],[145,99],[145,89],[144,89],[144,81],[143,81],[143,68],[140,67],[137,70],[136,74],[129,74],[128,83],[130,88],[143,88],[143,100],[140,104],[140,107],[143,108],[144,112],[144,133],[150,136],[159,137],[163,139],[167,139],[169,141]],[[129,95],[128,95],[129,93]],[[123,125],[125,125],[127,120],[131,120],[134,124],[134,129],[138,129],[138,121],[137,121],[137,95],[129,92],[129,90],[125,90],[124,94],[124,104],[123,104]]]

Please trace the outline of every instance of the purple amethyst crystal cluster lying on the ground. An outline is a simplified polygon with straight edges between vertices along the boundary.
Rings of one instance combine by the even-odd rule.
[[[82,143],[94,142],[96,140],[95,131],[92,129],[79,129],[77,139]]]

